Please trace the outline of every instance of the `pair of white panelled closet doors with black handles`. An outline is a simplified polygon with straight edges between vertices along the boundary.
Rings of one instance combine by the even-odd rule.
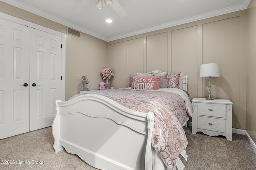
[[[0,139],[52,125],[61,69],[60,36],[0,18]]]

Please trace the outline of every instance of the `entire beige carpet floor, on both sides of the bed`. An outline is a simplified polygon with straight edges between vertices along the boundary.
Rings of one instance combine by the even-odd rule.
[[[185,170],[256,170],[256,154],[244,135],[233,133],[233,141],[227,141],[225,137],[192,134],[191,127],[184,129],[189,143],[188,161],[183,161]],[[65,150],[54,153],[53,143],[52,127],[2,139],[0,160],[14,160],[14,164],[0,164],[0,169],[96,170],[75,154]],[[32,164],[32,161],[43,161],[43,164]]]

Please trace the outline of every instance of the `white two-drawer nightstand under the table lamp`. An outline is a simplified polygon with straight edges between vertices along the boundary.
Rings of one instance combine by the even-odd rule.
[[[192,133],[222,135],[232,141],[232,102],[226,99],[193,98]]]

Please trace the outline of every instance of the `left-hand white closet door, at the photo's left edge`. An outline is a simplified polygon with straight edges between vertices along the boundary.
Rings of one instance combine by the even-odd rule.
[[[0,18],[0,139],[29,131],[29,35]]]

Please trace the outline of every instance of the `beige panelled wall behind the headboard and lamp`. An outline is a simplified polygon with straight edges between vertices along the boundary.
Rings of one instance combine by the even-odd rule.
[[[200,65],[219,63],[221,77],[212,78],[212,96],[231,100],[233,127],[245,129],[246,10],[111,41],[108,49],[108,58],[115,56],[111,66],[124,73],[112,80],[115,88],[128,86],[129,74],[136,72],[183,72],[190,99],[208,95]]]

